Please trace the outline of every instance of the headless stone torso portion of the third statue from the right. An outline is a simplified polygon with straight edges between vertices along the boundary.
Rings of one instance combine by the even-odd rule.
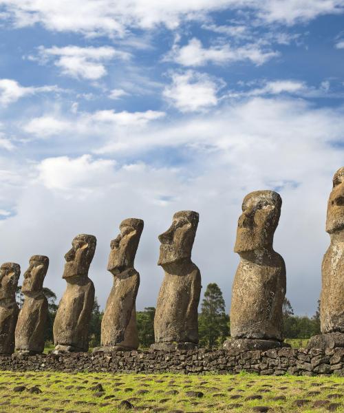
[[[165,272],[155,310],[155,343],[198,343],[197,307],[201,288],[200,270],[194,264],[187,275]]]

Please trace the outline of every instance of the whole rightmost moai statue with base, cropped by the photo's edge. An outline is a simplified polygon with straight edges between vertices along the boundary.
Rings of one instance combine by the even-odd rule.
[[[322,334],[310,339],[310,348],[344,347],[344,167],[334,173],[327,204],[326,232],[331,241],[321,271]]]

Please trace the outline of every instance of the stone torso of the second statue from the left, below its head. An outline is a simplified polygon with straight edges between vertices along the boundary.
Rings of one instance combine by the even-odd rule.
[[[16,327],[16,349],[43,352],[46,321],[46,297],[25,297]]]

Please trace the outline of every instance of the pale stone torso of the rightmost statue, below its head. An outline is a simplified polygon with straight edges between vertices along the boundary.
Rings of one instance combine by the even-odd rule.
[[[323,257],[321,332],[344,332],[344,240],[332,242]]]

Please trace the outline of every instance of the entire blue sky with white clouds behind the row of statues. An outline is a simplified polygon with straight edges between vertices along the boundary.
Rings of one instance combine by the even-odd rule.
[[[50,257],[63,293],[74,235],[98,246],[142,218],[138,308],[162,282],[158,234],[200,212],[193,260],[230,304],[244,195],[283,199],[275,249],[312,315],[332,176],[344,164],[343,0],[0,0],[2,262]]]

